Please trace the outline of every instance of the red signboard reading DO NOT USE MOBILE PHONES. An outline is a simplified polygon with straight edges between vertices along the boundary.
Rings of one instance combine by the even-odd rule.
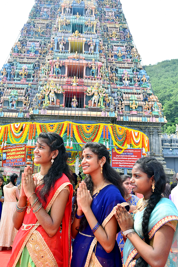
[[[2,167],[26,165],[26,145],[9,146],[2,151]]]

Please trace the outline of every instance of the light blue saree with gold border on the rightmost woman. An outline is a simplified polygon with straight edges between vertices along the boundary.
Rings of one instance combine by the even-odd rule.
[[[140,200],[141,201],[141,200]],[[136,233],[143,239],[143,232],[142,232],[142,219],[143,219],[144,209],[142,211],[138,211],[134,214],[134,229]],[[168,198],[161,198],[158,204],[153,209],[149,225],[148,225],[148,234],[149,239],[152,239],[155,232],[166,222],[178,220],[178,211],[174,203],[169,200]],[[178,267],[178,253],[177,253],[177,243],[178,241],[178,224],[176,227],[176,231],[174,233],[174,238],[172,241],[171,251],[168,256],[168,260],[166,262],[165,267]],[[138,252],[131,244],[131,241],[127,238],[125,242],[125,246],[123,249],[123,260],[124,260],[124,267],[132,267],[135,266],[135,260],[132,259]],[[132,262],[131,262],[132,261]]]

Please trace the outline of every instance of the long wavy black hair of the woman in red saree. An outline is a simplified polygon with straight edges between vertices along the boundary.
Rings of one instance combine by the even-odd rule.
[[[43,184],[40,186],[39,196],[40,198],[47,201],[47,195],[51,188],[54,187],[55,182],[65,174],[70,182],[73,182],[72,172],[67,165],[68,153],[64,146],[62,137],[56,133],[40,133],[37,142],[43,142],[48,145],[51,151],[58,150],[58,155],[55,157],[53,164],[43,178]]]

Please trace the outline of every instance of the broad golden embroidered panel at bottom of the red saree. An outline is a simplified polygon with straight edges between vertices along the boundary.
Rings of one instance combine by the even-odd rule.
[[[26,247],[36,267],[58,267],[53,253],[37,230],[28,239]]]

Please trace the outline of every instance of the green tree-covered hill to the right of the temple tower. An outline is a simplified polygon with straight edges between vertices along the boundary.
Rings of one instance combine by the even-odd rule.
[[[165,60],[155,65],[145,66],[150,76],[152,89],[163,105],[168,121],[166,132],[175,132],[178,124],[178,59]]]

